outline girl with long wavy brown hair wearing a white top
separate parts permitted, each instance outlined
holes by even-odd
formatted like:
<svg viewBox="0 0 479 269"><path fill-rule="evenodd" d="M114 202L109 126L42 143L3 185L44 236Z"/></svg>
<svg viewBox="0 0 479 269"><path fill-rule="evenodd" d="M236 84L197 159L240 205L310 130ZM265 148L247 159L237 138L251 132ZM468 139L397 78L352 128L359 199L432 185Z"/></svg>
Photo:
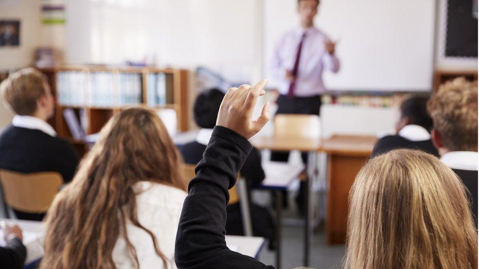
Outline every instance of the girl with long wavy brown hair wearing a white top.
<svg viewBox="0 0 479 269"><path fill-rule="evenodd" d="M110 119L46 217L42 268L176 268L183 160L155 112Z"/></svg>

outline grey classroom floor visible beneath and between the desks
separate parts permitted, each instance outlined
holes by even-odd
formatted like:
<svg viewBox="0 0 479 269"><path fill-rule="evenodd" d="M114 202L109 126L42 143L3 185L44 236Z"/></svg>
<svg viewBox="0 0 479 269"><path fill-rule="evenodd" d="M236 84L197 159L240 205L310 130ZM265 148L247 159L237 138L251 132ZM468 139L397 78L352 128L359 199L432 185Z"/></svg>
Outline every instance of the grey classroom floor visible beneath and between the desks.
<svg viewBox="0 0 479 269"><path fill-rule="evenodd" d="M294 205L296 193L289 193L290 207L285 209L283 217L285 219L297 218ZM269 196L265 192L256 192L253 194L253 200L266 206L269 203ZM304 229L301 226L284 225L283 224L283 252L282 252L282 269L292 269L302 266L303 261L303 234ZM315 269L341 268L341 263L345 255L344 245L327 245L324 233L324 225L319 225L315 229L310 250L310 265ZM274 251L270 251L267 246L262 249L259 260L266 265L275 265L276 255Z"/></svg>

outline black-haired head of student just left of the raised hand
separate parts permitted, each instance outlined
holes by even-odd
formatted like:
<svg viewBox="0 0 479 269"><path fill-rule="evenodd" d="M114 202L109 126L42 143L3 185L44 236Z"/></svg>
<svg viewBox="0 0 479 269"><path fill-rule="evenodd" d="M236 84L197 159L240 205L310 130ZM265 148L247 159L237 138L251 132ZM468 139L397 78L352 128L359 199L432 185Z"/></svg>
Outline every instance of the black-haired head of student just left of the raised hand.
<svg viewBox="0 0 479 269"><path fill-rule="evenodd" d="M223 101L224 93L218 89L211 89L198 95L193 106L196 124L201 128L213 128L216 125L219 106Z"/></svg>

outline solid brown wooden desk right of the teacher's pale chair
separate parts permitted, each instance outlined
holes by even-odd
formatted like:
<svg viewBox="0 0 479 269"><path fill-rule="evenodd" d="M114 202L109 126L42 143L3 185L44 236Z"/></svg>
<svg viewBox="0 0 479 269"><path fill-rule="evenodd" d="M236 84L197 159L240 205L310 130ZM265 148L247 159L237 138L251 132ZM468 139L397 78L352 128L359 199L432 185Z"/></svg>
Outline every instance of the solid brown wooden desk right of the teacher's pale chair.
<svg viewBox="0 0 479 269"><path fill-rule="evenodd" d="M347 230L348 197L356 174L368 160L377 141L374 136L335 135L319 148L328 154L326 240L344 244Z"/></svg>

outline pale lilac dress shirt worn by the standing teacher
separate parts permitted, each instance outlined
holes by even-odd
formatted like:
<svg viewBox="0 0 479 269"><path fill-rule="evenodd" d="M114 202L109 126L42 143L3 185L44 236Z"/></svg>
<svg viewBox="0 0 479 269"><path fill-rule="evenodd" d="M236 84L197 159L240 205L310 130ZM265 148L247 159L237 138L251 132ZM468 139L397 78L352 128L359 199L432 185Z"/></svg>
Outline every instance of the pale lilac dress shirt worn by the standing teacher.
<svg viewBox="0 0 479 269"><path fill-rule="evenodd" d="M322 81L323 70L339 71L339 59L324 48L324 41L329 41L329 38L323 32L314 26L293 29L280 39L270 63L270 80L282 95L288 94L290 81L286 79L285 70L293 70L303 33L306 37L299 58L294 96L310 97L326 92Z"/></svg>

